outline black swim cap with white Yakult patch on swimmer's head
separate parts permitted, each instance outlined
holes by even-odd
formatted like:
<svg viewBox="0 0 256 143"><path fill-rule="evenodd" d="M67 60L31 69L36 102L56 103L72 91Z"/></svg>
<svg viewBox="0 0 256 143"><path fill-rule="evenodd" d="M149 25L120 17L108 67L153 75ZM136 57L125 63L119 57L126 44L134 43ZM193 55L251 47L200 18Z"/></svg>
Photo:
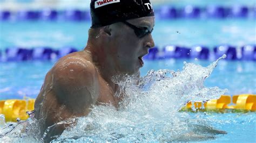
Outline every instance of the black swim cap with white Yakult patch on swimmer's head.
<svg viewBox="0 0 256 143"><path fill-rule="evenodd" d="M150 0L91 0L91 28L154 16Z"/></svg>

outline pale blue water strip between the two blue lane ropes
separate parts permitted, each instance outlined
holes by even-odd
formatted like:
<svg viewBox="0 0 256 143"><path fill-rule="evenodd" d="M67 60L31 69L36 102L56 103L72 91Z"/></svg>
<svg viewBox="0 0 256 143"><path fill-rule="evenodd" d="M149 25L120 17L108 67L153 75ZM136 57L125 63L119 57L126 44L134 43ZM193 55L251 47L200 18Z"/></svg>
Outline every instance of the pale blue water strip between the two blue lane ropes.
<svg viewBox="0 0 256 143"><path fill-rule="evenodd" d="M166 45L213 48L221 44L241 47L255 44L255 22L255 19L157 20L152 35L159 48ZM10 46L83 49L89 28L90 22L1 22L0 50Z"/></svg>

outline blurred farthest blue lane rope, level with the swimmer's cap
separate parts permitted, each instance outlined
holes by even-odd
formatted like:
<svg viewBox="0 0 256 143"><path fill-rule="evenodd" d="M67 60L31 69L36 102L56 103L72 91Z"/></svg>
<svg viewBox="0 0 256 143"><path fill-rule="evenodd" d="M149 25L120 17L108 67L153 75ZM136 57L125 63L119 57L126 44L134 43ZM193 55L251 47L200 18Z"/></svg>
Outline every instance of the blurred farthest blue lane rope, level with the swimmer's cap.
<svg viewBox="0 0 256 143"><path fill-rule="evenodd" d="M253 6L234 5L221 6L209 5L205 7L187 5L184 8L175 8L164 5L155 8L155 15L158 19L177 19L177 18L256 18L256 8ZM90 10L80 9L41 9L41 10L0 10L0 20L2 21L24 21L24 20L69 20L69 21L90 21Z"/></svg>

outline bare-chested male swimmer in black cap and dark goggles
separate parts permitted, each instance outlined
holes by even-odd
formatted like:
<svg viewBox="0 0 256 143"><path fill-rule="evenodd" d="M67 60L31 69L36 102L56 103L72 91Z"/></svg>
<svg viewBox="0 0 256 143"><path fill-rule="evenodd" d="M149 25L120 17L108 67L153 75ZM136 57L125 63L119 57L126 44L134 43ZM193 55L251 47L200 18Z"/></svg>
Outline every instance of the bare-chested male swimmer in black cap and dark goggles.
<svg viewBox="0 0 256 143"><path fill-rule="evenodd" d="M92 105L112 104L118 85L112 77L139 74L143 56L154 47L154 11L149 0L92 0L92 26L83 51L61 58L46 74L35 102L35 118L47 127L87 116ZM61 134L57 126L49 136Z"/></svg>

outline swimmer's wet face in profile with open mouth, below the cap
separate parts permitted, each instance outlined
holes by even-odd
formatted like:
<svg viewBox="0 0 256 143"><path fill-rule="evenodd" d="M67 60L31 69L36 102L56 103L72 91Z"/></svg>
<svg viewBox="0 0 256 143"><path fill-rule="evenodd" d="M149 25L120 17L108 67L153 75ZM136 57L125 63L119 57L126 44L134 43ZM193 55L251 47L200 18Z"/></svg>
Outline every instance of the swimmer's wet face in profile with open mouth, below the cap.
<svg viewBox="0 0 256 143"><path fill-rule="evenodd" d="M129 24L145 27L152 31L154 16L127 20ZM111 57L118 73L136 74L143 67L143 56L149 53L149 48L154 47L151 33L139 38L133 28L124 23L114 25L111 32Z"/></svg>

